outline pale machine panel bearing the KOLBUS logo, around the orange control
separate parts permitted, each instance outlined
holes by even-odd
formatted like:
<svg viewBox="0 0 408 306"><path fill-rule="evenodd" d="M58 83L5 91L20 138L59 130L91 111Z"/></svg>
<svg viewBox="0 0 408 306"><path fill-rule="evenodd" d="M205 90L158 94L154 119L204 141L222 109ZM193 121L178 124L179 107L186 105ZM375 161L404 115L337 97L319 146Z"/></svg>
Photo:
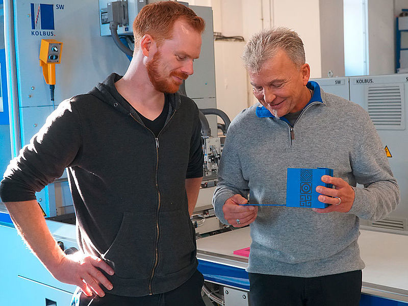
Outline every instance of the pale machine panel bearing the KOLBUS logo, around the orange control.
<svg viewBox="0 0 408 306"><path fill-rule="evenodd" d="M55 107L63 99L88 92L112 71L126 71L126 56L111 37L100 37L97 11L98 4L93 1L44 0L40 5L14 2L22 145L29 142L54 110L38 60L41 39L63 43L61 64L56 65ZM25 116L30 113L41 115Z"/></svg>

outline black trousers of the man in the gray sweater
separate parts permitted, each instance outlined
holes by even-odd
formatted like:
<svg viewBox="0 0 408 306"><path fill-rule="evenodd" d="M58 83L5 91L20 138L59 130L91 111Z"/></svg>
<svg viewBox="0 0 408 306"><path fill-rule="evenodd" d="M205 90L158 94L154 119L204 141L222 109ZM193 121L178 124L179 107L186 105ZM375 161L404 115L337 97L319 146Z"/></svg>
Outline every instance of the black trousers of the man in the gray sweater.
<svg viewBox="0 0 408 306"><path fill-rule="evenodd" d="M251 306L359 306L362 271L319 277L249 274Z"/></svg>

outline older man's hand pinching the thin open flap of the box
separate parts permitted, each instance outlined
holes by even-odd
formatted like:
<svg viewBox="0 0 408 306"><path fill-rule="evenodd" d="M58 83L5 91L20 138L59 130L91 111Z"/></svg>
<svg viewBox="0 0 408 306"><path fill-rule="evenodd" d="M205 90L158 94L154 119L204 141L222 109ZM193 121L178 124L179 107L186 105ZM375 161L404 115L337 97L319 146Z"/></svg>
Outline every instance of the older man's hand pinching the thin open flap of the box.
<svg viewBox="0 0 408 306"><path fill-rule="evenodd" d="M225 201L222 211L228 223L234 227L242 227L252 223L257 218L258 207L242 206L247 202L248 200L240 194L235 194ZM239 222L237 222L238 220Z"/></svg>

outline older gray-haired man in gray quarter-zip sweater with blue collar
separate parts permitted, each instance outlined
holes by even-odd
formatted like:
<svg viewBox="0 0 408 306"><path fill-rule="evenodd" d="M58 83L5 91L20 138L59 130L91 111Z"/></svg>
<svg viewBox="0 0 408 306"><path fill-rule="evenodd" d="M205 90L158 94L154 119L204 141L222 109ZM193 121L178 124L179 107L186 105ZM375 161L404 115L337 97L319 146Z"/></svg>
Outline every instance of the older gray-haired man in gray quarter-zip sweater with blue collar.
<svg viewBox="0 0 408 306"><path fill-rule="evenodd" d="M309 82L297 33L256 34L242 58L259 104L228 129L213 205L223 223L250 224L251 304L357 306L360 218L384 218L399 202L374 125L360 106ZM316 188L329 206L286 207L288 167L334 169L321 181L335 189Z"/></svg>

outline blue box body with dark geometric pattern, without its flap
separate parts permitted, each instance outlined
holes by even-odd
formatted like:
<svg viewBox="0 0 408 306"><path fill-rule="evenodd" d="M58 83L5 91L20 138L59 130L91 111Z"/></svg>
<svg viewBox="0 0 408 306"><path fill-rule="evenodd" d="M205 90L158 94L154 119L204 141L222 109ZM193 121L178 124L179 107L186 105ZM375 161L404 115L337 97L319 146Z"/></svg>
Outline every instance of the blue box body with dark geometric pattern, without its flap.
<svg viewBox="0 0 408 306"><path fill-rule="evenodd" d="M286 206L302 208L326 208L327 203L320 202L317 197L317 186L333 188L331 184L322 182L323 175L333 176L329 168L288 168L286 181Z"/></svg>

